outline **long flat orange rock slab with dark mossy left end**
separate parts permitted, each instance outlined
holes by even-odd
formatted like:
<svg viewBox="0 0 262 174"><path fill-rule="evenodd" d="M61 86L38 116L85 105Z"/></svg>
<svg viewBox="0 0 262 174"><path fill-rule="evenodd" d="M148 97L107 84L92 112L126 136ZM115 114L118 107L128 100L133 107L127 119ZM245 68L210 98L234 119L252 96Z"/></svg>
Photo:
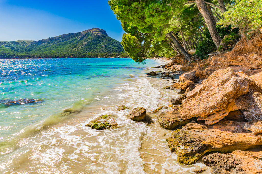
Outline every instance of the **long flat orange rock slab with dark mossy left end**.
<svg viewBox="0 0 262 174"><path fill-rule="evenodd" d="M197 123L188 123L166 140L177 154L177 161L187 165L194 164L206 152L228 153L262 145L262 136L221 131Z"/></svg>

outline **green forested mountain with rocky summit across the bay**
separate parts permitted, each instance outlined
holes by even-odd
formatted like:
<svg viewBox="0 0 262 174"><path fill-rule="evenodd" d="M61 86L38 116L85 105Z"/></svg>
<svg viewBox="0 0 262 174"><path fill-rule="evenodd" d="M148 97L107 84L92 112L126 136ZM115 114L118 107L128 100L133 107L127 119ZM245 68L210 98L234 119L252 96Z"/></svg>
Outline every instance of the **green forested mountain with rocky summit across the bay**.
<svg viewBox="0 0 262 174"><path fill-rule="evenodd" d="M105 30L89 29L39 41L0 42L0 58L127 57Z"/></svg>

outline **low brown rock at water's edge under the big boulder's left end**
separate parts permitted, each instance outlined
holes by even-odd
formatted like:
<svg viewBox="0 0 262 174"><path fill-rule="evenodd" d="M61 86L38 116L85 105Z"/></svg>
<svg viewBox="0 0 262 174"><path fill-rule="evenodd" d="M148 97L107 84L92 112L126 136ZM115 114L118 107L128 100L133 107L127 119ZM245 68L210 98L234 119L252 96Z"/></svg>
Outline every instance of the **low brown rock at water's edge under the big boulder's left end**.
<svg viewBox="0 0 262 174"><path fill-rule="evenodd" d="M183 120L179 116L179 111L164 112L157 116L159 125L165 129L175 129L177 127L185 126L193 119Z"/></svg>

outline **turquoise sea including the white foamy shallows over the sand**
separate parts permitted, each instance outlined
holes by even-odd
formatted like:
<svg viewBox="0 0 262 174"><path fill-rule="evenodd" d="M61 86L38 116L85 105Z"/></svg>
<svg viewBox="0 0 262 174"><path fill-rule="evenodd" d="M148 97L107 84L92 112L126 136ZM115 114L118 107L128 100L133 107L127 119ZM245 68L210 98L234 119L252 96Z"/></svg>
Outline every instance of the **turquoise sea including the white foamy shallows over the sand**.
<svg viewBox="0 0 262 174"><path fill-rule="evenodd" d="M178 164L165 141L171 131L159 126L159 113L150 113L178 97L162 89L171 85L167 79L145 75L161 64L0 59L0 173L192 173L204 167L201 161ZM129 109L115 111L117 104ZM135 107L146 108L151 121L126 120ZM118 128L85 126L108 114L116 117Z"/></svg>

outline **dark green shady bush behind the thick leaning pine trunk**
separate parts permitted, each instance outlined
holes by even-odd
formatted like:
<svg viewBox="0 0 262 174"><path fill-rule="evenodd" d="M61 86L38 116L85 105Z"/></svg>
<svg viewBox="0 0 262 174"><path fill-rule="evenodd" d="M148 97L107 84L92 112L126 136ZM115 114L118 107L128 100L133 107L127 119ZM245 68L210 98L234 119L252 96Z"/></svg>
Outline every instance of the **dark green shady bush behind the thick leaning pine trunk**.
<svg viewBox="0 0 262 174"><path fill-rule="evenodd" d="M220 37L224 37L225 35L230 35L232 33L238 33L238 29L230 30L230 26L223 27L221 25L217 25L216 29L220 35ZM236 34L235 34L236 35ZM236 35L237 36L237 35ZM208 54L214 52L217 49L215 43L213 42L211 35L208 30L204 31L203 34L203 42L200 42L198 47L196 48L196 55L200 59L208 58Z"/></svg>

